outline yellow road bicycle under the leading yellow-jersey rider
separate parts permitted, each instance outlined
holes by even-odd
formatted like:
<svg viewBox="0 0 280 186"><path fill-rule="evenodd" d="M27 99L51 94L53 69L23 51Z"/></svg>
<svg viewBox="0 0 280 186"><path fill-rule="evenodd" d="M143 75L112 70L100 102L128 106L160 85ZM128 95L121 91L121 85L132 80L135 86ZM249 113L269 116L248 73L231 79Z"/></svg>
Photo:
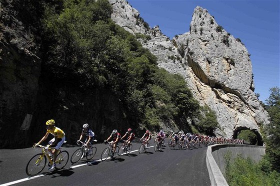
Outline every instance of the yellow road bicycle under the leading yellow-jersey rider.
<svg viewBox="0 0 280 186"><path fill-rule="evenodd" d="M42 152L33 156L27 163L25 172L28 176L34 176L39 174L46 165L46 159L49 162L48 163L49 167L53 164L52 156L49 155L47 149L52 150L54 148L48 148L47 146L42 146L42 145L38 145L37 147L41 148ZM54 168L56 170L63 169L67 164L68 159L69 159L69 153L67 151L61 151L61 149L59 149L55 160L56 167Z"/></svg>

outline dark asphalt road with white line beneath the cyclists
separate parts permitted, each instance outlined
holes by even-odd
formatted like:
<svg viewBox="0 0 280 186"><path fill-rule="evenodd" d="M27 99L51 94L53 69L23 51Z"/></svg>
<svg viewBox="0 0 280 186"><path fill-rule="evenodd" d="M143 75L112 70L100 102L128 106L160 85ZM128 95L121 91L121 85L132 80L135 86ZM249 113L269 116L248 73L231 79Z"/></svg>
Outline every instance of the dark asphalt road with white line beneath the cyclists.
<svg viewBox="0 0 280 186"><path fill-rule="evenodd" d="M64 170L48 171L40 176L25 173L29 159L40 153L39 148L0 150L0 184L17 186L209 186L206 168L206 147L189 150L170 150L166 145L154 152L153 140L148 153L139 154L140 143L132 143L130 155L100 161L105 144L96 144L97 152L91 162L84 159L76 164L70 160ZM63 147L69 158L77 147ZM135 152L133 152L135 151ZM0 185L0 186L1 186Z"/></svg>

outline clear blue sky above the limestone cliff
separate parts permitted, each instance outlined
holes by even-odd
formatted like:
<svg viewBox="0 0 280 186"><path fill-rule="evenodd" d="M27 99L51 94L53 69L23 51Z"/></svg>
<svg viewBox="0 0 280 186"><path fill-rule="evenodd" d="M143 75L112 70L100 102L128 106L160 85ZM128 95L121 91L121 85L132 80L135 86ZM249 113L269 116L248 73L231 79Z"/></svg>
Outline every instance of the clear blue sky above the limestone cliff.
<svg viewBox="0 0 280 186"><path fill-rule="evenodd" d="M244 43L252 62L255 93L269 97L280 86L279 0L128 0L150 27L159 25L169 38L189 31L194 8L208 10L235 38Z"/></svg>

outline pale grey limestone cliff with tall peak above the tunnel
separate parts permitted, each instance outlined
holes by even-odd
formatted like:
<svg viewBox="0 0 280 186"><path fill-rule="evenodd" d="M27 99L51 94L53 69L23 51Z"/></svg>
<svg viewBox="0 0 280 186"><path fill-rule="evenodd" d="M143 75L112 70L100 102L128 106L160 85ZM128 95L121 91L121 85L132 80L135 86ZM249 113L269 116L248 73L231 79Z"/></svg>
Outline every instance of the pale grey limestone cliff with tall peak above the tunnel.
<svg viewBox="0 0 280 186"><path fill-rule="evenodd" d="M146 28L144 21L135 24L134 15L139 19L139 12L125 0L110 2L111 18L130 33L149 35L151 39L142 44L158 57L158 66L181 74L200 105L215 111L220 125L216 135L236 137L239 130L249 129L261 138L258 124L267 124L268 115L253 92L248 51L206 9L197 6L189 32L169 40L158 26Z"/></svg>

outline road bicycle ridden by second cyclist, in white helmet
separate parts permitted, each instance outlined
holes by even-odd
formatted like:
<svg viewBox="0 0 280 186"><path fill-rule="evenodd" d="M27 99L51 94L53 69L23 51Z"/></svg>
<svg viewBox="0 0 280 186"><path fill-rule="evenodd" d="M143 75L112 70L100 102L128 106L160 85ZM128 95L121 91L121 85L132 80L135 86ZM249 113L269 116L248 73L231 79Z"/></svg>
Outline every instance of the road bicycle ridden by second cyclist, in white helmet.
<svg viewBox="0 0 280 186"><path fill-rule="evenodd" d="M97 142L97 140L93 140L93 142ZM77 144L81 144L81 147L72 154L71 163L77 163L82 157L86 157L86 160L91 160L96 153L96 147L90 144L90 148L87 149L86 144L81 141L78 141Z"/></svg>

